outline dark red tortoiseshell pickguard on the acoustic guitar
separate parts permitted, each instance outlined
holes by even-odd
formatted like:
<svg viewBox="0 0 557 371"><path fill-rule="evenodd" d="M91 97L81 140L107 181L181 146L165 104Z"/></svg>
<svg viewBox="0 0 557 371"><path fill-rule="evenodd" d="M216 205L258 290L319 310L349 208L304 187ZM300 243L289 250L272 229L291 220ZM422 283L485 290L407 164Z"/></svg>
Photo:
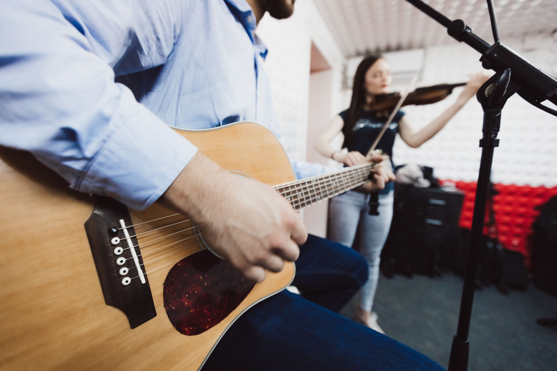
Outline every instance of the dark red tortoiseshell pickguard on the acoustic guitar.
<svg viewBox="0 0 557 371"><path fill-rule="evenodd" d="M199 335L242 303L255 283L226 260L204 250L180 260L164 280L164 309L184 335Z"/></svg>

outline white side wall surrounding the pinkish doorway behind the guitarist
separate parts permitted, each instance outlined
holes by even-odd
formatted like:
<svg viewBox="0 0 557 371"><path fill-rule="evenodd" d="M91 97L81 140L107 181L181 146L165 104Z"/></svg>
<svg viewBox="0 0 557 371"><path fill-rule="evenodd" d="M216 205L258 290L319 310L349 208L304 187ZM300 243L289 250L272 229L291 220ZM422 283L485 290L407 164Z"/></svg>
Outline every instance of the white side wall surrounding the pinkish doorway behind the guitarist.
<svg viewBox="0 0 557 371"><path fill-rule="evenodd" d="M307 105L309 102L310 56L313 41L333 72L334 105L342 106L341 81L344 56L313 0L298 0L294 15L277 21L268 14L257 27L268 47L265 70L271 80L273 104L281 124L282 145L291 159L304 160L307 149ZM324 123L326 125L326 123Z"/></svg>

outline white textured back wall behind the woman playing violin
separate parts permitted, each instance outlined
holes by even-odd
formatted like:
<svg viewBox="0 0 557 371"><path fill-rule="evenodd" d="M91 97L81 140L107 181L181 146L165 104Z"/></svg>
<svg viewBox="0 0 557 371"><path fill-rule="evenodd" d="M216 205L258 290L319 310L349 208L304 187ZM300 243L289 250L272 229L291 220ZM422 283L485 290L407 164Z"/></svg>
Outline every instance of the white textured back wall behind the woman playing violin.
<svg viewBox="0 0 557 371"><path fill-rule="evenodd" d="M532 42L533 41L533 42ZM506 40L505 44L553 76L557 76L557 39L533 37ZM482 70L480 54L466 44L451 43L429 47L423 52L422 73L418 86L467 81L467 74ZM400 52L397 52L400 53ZM395 53L396 70L413 68L400 63ZM349 61L350 62L350 61ZM354 62L353 62L354 63ZM351 79L351 76L348 78ZM455 102L462 88L446 100L426 106L406 106L403 110L417 128L423 127ZM344 106L350 92L345 90ZM550 104L550 103L549 103ZM432 166L441 179L477 180L481 149L483 111L476 98L457 113L447 126L418 149L411 149L397 138L394 146L396 164L417 163ZM500 147L495 149L492 179L503 184L557 186L557 117L532 107L518 96L511 97L502 111Z"/></svg>

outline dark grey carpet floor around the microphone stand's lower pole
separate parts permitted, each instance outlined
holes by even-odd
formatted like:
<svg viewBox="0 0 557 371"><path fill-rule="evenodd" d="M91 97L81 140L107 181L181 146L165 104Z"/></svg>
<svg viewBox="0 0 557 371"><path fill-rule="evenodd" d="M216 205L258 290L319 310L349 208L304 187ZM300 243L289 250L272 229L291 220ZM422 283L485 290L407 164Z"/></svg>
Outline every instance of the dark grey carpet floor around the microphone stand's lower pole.
<svg viewBox="0 0 557 371"><path fill-rule="evenodd" d="M448 367L461 294L462 279L452 274L381 276L374 311L387 335ZM342 314L351 316L356 302ZM476 290L468 370L557 371L557 327L541 327L540 317L557 317L557 298L531 284L508 295L493 287Z"/></svg>

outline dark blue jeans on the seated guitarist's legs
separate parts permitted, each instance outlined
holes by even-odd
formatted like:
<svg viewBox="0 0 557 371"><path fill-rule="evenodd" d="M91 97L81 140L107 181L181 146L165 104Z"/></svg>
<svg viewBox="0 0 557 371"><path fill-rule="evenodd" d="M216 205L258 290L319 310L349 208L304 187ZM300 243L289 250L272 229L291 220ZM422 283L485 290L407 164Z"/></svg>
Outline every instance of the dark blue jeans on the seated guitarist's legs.
<svg viewBox="0 0 557 371"><path fill-rule="evenodd" d="M284 290L247 310L202 371L443 370L335 313L364 284L367 272L365 259L355 251L310 235L300 246L294 280L304 297Z"/></svg>

